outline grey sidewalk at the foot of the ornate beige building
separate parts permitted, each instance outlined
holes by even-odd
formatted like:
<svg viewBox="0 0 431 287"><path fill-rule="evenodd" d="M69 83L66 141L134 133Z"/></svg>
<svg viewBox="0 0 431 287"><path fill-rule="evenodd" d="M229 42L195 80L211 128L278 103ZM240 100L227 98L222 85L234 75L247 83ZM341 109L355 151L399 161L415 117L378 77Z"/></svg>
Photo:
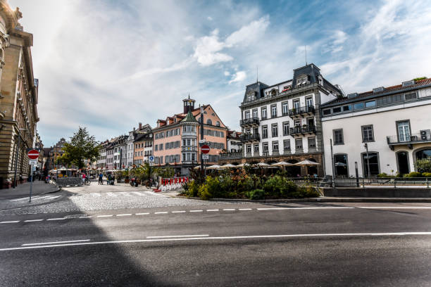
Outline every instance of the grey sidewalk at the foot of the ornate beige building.
<svg viewBox="0 0 431 287"><path fill-rule="evenodd" d="M45 184L45 181L35 180L32 186L32 196L58 191L55 184ZM30 182L18 184L15 189L0 189L0 200L22 198L30 195Z"/></svg>

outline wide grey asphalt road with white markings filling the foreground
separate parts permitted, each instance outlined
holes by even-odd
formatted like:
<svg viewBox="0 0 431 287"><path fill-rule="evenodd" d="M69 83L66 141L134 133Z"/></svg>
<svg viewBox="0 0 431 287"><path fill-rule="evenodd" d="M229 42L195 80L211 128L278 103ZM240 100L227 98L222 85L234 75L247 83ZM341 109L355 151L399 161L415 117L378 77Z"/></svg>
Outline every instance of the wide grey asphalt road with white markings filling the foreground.
<svg viewBox="0 0 431 287"><path fill-rule="evenodd" d="M431 204L123 194L141 206L113 209L101 201L120 194L89 191L76 210L58 210L80 197L65 194L46 210L0 213L0 286L431 285Z"/></svg>

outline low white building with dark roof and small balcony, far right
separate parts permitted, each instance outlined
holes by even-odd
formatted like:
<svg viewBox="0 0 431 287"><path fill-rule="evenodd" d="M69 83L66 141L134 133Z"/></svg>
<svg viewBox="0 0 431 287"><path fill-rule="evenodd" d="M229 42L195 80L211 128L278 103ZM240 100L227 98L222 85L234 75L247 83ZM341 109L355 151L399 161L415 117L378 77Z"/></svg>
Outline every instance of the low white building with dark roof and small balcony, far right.
<svg viewBox="0 0 431 287"><path fill-rule="evenodd" d="M355 162L360 177L368 167L371 176L407 174L417 159L431 157L431 79L349 94L321 113L326 174L354 176Z"/></svg>

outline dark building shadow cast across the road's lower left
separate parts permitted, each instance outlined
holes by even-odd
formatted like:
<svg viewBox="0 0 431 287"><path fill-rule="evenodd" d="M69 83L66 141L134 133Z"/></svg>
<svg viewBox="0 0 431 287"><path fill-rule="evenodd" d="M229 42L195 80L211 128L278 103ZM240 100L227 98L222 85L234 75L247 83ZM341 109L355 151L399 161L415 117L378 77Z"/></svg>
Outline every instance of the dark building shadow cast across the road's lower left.
<svg viewBox="0 0 431 287"><path fill-rule="evenodd" d="M73 213L68 218L85 212ZM113 240L92 218L3 225L1 236L16 247L68 238ZM118 244L0 251L0 282L1 286L175 286L136 264Z"/></svg>

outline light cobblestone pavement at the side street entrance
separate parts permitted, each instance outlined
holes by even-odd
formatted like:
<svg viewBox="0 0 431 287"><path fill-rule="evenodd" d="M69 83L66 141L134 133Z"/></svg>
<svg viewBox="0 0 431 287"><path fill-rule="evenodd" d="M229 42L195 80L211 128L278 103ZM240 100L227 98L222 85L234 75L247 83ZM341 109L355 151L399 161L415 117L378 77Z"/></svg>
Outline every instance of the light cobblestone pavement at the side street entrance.
<svg viewBox="0 0 431 287"><path fill-rule="evenodd" d="M216 201L173 198L163 193L154 193L142 186L132 187L125 184L107 186L98 185L96 182L92 182L90 186L63 188L52 196L56 197L54 201L44 203L44 200L50 198L40 198L37 205L2 210L0 215L218 204ZM34 202L37 202L37 199Z"/></svg>

